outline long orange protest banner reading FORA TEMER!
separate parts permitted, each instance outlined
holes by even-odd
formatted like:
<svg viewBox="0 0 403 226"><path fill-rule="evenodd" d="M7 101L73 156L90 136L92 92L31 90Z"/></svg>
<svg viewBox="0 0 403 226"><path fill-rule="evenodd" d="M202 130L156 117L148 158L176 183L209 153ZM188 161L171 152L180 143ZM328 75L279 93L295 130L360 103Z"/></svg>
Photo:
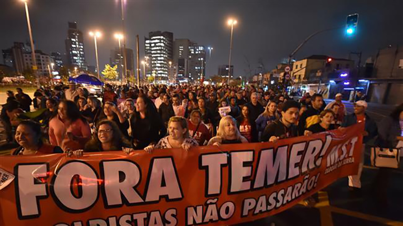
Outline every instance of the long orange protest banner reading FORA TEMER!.
<svg viewBox="0 0 403 226"><path fill-rule="evenodd" d="M224 225L256 220L357 174L363 129L358 124L276 143L188 152L0 157L0 225Z"/></svg>

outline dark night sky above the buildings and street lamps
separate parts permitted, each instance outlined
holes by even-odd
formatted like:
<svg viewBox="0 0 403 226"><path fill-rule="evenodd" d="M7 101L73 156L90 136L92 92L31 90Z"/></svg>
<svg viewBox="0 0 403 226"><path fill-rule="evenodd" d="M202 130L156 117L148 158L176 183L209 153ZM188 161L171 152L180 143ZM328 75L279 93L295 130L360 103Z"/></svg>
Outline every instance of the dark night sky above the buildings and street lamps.
<svg viewBox="0 0 403 226"><path fill-rule="evenodd" d="M312 54L347 58L350 51L362 51L363 61L388 45L403 44L402 0L128 0L126 2L127 47L135 50L135 35L140 37L140 60L144 58L144 37L150 31L170 31L174 38L188 38L212 46L207 61L207 76L217 74L218 66L228 64L229 17L236 18L232 62L234 75L254 71L259 59L266 70L287 58L307 36L315 31L345 24L348 14L359 13L355 37L345 37L342 30L320 34L296 55L301 59ZM109 63L113 38L121 31L120 2L117 0L30 0L30 17L36 49L45 53L65 53L67 21L77 21L84 33L85 57L96 65L90 30L100 30L101 70ZM0 49L14 41L28 41L23 3L0 0ZM135 56L135 55L134 55ZM208 51L207 51L208 56ZM208 58L207 58L208 59ZM3 63L3 56L1 56Z"/></svg>

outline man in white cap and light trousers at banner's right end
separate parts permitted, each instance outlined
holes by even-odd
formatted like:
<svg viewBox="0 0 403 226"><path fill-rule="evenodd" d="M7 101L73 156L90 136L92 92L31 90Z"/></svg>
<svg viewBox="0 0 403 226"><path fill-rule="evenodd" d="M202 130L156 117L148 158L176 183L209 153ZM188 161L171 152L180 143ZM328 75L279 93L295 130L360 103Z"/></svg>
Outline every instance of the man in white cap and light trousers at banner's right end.
<svg viewBox="0 0 403 226"><path fill-rule="evenodd" d="M364 130L364 138L363 138L363 149L362 149L362 157L360 161L360 165L358 168L358 174L354 176L348 176L348 187L351 191L358 192L361 190L361 173L363 170L364 163L364 151L365 144L368 144L369 140L377 135L377 126L375 121L373 121L365 112L368 104L364 100L359 100L354 103L354 113L347 115L344 117L344 121L341 125L341 129L364 122L365 130Z"/></svg>

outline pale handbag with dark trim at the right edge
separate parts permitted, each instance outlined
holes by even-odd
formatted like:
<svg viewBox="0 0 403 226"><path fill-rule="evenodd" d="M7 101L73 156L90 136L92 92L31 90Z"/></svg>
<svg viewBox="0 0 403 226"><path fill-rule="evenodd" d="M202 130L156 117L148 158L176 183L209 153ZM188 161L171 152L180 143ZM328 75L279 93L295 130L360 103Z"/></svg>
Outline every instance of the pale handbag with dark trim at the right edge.
<svg viewBox="0 0 403 226"><path fill-rule="evenodd" d="M375 167L398 168L400 163L399 148L371 148L371 165Z"/></svg>

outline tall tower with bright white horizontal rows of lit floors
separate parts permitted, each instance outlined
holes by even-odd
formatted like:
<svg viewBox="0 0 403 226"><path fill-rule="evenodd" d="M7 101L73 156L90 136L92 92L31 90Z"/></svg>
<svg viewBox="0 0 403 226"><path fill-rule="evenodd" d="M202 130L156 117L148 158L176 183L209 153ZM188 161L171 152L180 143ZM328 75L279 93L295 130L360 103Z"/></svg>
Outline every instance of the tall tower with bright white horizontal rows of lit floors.
<svg viewBox="0 0 403 226"><path fill-rule="evenodd" d="M158 83L167 83L169 80L169 62L173 60L173 39L173 33L160 31L150 32L149 37L145 38L147 77L154 76Z"/></svg>

